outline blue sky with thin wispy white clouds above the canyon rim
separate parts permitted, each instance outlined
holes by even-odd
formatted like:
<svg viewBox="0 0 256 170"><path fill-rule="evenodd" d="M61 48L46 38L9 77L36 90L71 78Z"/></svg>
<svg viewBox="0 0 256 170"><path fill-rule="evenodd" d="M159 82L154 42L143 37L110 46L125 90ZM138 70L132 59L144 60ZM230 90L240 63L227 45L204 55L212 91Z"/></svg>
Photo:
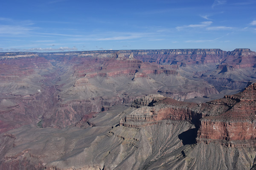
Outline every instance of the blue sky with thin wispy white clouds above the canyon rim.
<svg viewBox="0 0 256 170"><path fill-rule="evenodd" d="M5 0L0 52L250 48L255 0Z"/></svg>

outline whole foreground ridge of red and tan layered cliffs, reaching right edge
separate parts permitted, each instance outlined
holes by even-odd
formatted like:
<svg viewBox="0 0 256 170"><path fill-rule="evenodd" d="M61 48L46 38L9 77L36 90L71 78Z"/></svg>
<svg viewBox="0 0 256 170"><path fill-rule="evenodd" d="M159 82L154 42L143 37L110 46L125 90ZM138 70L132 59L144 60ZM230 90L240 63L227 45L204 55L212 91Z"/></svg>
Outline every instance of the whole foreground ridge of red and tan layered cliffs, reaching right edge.
<svg viewBox="0 0 256 170"><path fill-rule="evenodd" d="M200 105L150 95L134 100L132 106L138 109L122 118L119 125L139 128L165 119L189 121L199 128L198 143L256 146L256 84L239 94Z"/></svg>

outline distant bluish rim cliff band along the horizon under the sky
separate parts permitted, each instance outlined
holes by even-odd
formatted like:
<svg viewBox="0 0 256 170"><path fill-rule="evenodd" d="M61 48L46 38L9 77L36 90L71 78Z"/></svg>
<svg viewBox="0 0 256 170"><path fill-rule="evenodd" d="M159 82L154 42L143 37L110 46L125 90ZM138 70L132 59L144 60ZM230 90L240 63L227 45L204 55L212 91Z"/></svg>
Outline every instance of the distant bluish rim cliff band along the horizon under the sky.
<svg viewBox="0 0 256 170"><path fill-rule="evenodd" d="M114 55L113 55L114 54ZM143 62L156 62L161 65L197 65L197 64L224 64L240 65L239 67L252 67L255 64L256 53L247 48L237 48L234 51L221 49L162 49L162 50L109 50L109 51L71 51L55 53L0 53L1 58L19 57L45 57L49 58L72 58L93 57L108 58L116 57L116 54L126 58L135 58ZM121 57L122 58L122 57ZM120 57L118 58L120 59Z"/></svg>

